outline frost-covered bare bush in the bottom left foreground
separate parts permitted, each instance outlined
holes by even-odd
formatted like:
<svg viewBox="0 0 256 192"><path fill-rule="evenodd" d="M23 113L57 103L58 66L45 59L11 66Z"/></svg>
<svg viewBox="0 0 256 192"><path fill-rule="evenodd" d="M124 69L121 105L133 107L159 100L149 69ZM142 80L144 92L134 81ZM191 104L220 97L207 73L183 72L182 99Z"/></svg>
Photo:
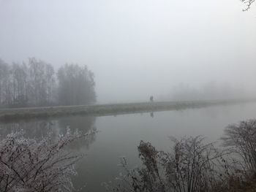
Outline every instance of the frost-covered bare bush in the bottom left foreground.
<svg viewBox="0 0 256 192"><path fill-rule="evenodd" d="M0 142L0 191L72 191L70 177L81 155L67 150L75 139L85 137L78 132L26 139L23 132L9 134Z"/></svg>

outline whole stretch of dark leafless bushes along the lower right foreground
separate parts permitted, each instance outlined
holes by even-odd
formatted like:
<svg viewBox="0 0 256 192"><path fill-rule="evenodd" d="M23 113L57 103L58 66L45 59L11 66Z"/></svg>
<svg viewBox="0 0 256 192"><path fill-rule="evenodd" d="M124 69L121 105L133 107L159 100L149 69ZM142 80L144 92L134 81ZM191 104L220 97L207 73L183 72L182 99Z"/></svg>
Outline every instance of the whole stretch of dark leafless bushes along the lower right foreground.
<svg viewBox="0 0 256 192"><path fill-rule="evenodd" d="M256 120L241 121L225 128L225 148L217 150L203 137L172 139L170 153L140 142L142 166L128 169L125 158L115 183L108 191L215 192L256 191Z"/></svg>

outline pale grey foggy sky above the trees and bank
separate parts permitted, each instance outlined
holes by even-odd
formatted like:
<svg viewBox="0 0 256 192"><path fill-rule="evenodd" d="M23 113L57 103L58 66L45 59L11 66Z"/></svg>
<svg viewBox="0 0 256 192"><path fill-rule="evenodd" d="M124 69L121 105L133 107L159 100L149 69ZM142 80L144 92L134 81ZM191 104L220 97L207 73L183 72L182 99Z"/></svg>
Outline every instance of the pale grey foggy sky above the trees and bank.
<svg viewBox="0 0 256 192"><path fill-rule="evenodd" d="M0 0L0 58L86 64L99 102L181 82L256 88L256 9L239 0Z"/></svg>

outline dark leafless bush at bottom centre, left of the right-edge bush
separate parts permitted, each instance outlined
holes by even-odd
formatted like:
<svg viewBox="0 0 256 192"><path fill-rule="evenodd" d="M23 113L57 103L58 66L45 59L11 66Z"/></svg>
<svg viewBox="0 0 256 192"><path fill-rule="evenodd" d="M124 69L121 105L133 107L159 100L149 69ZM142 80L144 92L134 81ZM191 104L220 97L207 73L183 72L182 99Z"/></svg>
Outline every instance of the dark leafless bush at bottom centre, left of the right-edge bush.
<svg viewBox="0 0 256 192"><path fill-rule="evenodd" d="M204 144L203 137L172 139L170 153L158 151L149 142L140 142L141 168L129 170L123 158L121 165L126 174L116 180L116 185L106 185L109 191L221 191L219 152L212 143Z"/></svg>

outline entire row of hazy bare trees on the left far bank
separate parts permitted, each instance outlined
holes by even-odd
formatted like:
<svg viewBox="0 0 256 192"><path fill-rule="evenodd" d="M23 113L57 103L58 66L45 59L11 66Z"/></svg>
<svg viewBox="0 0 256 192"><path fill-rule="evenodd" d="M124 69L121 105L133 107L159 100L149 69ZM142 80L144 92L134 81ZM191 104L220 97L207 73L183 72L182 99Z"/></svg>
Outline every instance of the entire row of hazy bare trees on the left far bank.
<svg viewBox="0 0 256 192"><path fill-rule="evenodd" d="M91 104L96 101L94 73L86 65L52 64L29 58L22 64L0 59L0 107Z"/></svg>

